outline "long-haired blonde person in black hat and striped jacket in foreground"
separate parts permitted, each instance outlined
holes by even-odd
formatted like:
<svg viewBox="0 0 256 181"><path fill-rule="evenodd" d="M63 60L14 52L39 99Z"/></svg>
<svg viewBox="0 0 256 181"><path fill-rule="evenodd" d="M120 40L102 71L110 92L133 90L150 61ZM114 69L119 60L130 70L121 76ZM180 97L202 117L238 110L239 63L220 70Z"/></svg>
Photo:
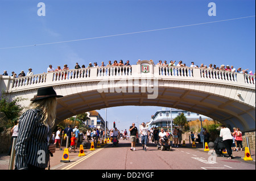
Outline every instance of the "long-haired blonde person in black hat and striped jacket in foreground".
<svg viewBox="0 0 256 181"><path fill-rule="evenodd" d="M56 145L49 145L56 117L57 95L53 87L42 87L31 99L30 106L19 118L19 134L15 150L15 169L44 170Z"/></svg>

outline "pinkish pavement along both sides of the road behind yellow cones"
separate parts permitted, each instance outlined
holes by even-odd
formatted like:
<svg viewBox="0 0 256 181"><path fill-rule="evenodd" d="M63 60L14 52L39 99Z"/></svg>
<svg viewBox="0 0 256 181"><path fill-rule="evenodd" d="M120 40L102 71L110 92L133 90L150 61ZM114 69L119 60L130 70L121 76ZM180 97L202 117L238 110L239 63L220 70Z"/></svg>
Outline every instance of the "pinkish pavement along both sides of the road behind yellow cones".
<svg viewBox="0 0 256 181"><path fill-rule="evenodd" d="M112 144L107 144L106 146L110 146ZM182 145L182 144L181 144ZM97 150L98 148L96 148L97 145L95 145L95 150ZM192 144L186 143L186 146L179 146L179 148L188 148L188 149L197 149L199 151L203 151L203 152L207 152L204 151L203 145L202 144L196 144L197 148L192 148ZM59 148L56 148L55 153L53 154L53 157L50 158L50 169L51 170L58 170L59 167L67 164L67 163L63 163L60 162L61 159L63 158L63 153L64 153L64 146L61 146L61 148L63 150L60 150ZM76 149L76 153L73 152L73 150L71 151L71 153L69 153L69 161L73 162L76 161L77 159L80 159L82 157L79 157L79 150L80 149ZM89 155L91 153L93 153L92 150L90 151L90 146L88 146L88 148L84 148L84 153L85 155ZM213 148L209 148L210 151L213 150ZM251 151L251 158L253 158L253 161L255 162L255 149L254 150L250 150ZM208 154L208 153L207 153ZM236 157L238 159L242 159L243 157L245 157L245 150L243 149L242 151L233 151L233 157ZM10 156L7 154L0 154L0 170L9 170L9 162L10 162ZM246 162L246 161L245 161Z"/></svg>

